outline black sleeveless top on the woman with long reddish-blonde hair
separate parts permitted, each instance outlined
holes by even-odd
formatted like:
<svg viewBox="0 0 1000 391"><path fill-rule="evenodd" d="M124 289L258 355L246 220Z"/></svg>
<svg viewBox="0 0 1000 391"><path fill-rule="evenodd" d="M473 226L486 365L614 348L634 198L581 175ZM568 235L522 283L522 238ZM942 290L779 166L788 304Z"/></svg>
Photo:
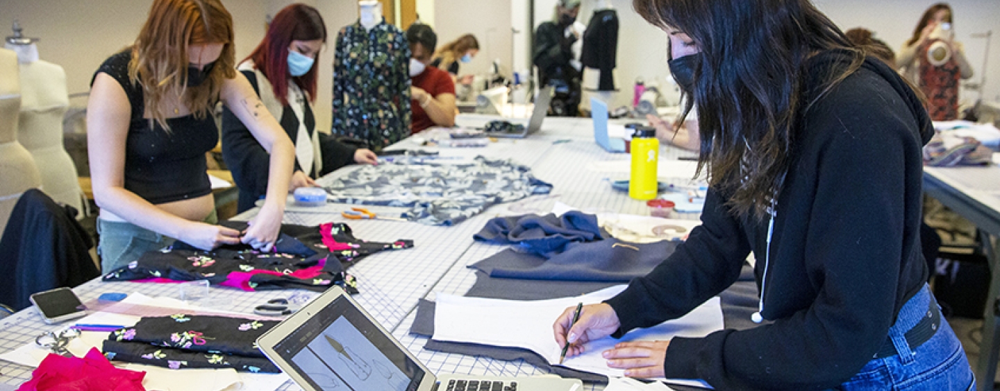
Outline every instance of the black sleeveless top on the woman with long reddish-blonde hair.
<svg viewBox="0 0 1000 391"><path fill-rule="evenodd" d="M170 132L155 121L143 118L142 86L128 78L131 51L125 50L104 61L94 73L104 73L118 81L132 105L125 142L125 190L151 203L196 198L212 193L205 153L219 142L219 130L211 116L194 115L167 119ZM94 81L91 79L91 86Z"/></svg>

